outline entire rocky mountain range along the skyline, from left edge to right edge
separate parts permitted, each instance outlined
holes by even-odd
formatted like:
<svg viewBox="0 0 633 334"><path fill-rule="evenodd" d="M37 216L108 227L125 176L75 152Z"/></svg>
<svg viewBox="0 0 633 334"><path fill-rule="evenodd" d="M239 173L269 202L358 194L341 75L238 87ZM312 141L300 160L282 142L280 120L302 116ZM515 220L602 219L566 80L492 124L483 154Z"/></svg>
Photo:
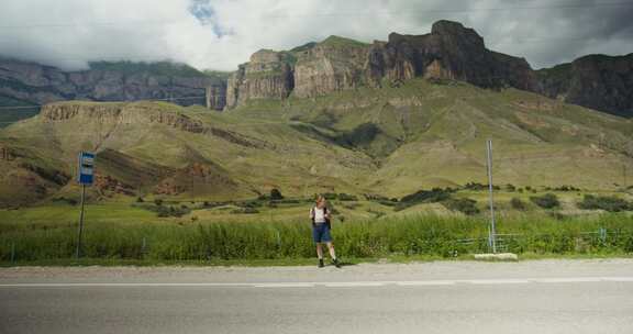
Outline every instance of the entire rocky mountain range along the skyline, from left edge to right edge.
<svg viewBox="0 0 633 334"><path fill-rule="evenodd" d="M230 110L260 99L397 87L412 78L458 80L490 89L512 87L633 116L633 54L591 55L533 70L524 58L488 49L475 30L452 21L435 22L429 34L391 33L386 42L371 44L330 36L290 51L262 49L230 75L165 62L101 62L88 70L63 71L0 58L0 105L173 98L181 105Z"/></svg>

